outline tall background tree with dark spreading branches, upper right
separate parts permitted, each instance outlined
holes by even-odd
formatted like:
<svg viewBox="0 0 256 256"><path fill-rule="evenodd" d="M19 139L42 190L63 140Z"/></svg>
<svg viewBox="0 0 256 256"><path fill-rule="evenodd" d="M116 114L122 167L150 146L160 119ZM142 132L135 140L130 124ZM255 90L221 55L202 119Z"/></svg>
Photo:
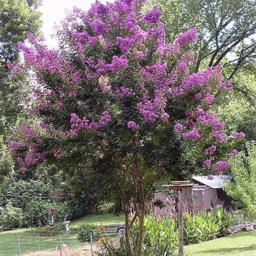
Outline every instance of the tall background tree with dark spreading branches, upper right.
<svg viewBox="0 0 256 256"><path fill-rule="evenodd" d="M242 130L246 140L255 139L255 3L228 0L151 0L158 4L167 41L180 31L196 27L194 71L206 66L223 66L226 79L233 79L229 97L217 97L214 109L227 129ZM216 95L218 96L218 94Z"/></svg>

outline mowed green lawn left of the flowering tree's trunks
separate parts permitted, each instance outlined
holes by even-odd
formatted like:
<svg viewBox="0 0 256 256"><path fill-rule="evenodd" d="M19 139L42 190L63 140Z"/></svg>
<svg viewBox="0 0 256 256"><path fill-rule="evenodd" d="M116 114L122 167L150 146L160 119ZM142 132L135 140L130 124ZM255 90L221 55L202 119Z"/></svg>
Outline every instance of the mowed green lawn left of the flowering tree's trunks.
<svg viewBox="0 0 256 256"><path fill-rule="evenodd" d="M71 222L71 231L63 234L61 241L70 248L81 247L77 239L77 233L72 231L72 227L80 223L96 223L100 225L114 225L124 222L124 215L114 214L87 215L79 220ZM22 254L43 250L55 250L60 246L60 236L33 236L26 233L26 228L11 230L0 233L0 256L17 256L18 235L20 237L20 247Z"/></svg>

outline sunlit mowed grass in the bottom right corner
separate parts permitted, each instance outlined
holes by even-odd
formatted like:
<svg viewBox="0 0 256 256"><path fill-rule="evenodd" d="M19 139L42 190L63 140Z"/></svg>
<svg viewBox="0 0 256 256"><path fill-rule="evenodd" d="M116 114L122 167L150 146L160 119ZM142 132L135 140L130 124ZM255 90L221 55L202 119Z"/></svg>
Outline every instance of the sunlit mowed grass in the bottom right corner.
<svg viewBox="0 0 256 256"><path fill-rule="evenodd" d="M186 256L256 256L256 231L241 232L191 246Z"/></svg>

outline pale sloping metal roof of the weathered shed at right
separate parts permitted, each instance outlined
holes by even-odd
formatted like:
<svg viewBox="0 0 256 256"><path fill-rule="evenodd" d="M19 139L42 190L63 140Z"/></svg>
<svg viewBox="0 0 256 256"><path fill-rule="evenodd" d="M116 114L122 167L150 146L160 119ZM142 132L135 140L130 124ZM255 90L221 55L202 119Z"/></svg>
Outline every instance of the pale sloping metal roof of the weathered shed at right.
<svg viewBox="0 0 256 256"><path fill-rule="evenodd" d="M224 182L230 182L232 179L231 175L212 175L211 177L212 179L209 179L208 176L193 176L192 178L210 188L223 188Z"/></svg>

